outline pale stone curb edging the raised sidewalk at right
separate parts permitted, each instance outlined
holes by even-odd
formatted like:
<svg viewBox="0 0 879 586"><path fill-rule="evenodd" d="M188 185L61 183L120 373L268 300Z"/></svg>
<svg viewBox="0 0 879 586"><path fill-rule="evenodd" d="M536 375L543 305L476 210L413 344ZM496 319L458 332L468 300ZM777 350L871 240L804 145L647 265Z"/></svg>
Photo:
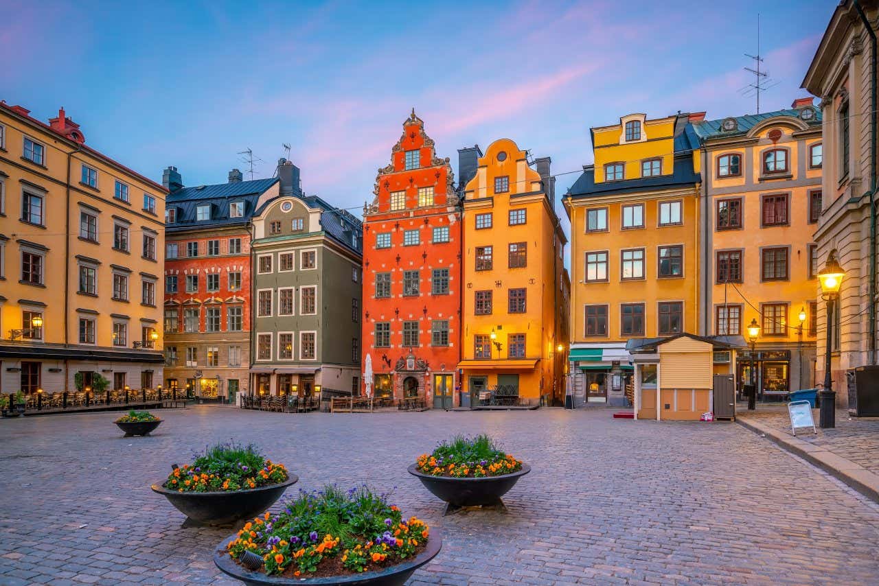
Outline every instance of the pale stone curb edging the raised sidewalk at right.
<svg viewBox="0 0 879 586"><path fill-rule="evenodd" d="M748 421L740 417L736 418L736 422L754 433L764 434L767 439L772 440L785 451L805 459L810 464L845 482L871 501L879 503L879 474L873 474L860 464L855 464L829 450L795 438L786 431L776 430L762 423Z"/></svg>

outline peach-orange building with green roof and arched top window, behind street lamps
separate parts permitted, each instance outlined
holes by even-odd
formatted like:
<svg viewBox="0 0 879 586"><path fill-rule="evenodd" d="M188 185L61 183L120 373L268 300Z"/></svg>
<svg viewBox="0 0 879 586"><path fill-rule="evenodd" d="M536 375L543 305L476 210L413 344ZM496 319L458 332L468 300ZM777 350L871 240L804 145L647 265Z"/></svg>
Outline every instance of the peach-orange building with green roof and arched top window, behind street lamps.
<svg viewBox="0 0 879 586"><path fill-rule="evenodd" d="M821 113L812 98L788 110L702 120L701 331L745 334L737 384L756 378L758 398L814 386L817 245L821 215ZM752 373L752 365L755 365Z"/></svg>

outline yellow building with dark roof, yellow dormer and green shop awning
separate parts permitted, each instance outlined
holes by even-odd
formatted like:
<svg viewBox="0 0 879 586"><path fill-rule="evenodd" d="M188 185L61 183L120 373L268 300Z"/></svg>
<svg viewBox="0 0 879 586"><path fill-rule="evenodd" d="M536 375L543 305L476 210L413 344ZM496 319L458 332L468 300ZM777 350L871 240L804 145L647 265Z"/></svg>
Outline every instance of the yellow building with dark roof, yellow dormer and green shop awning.
<svg viewBox="0 0 879 586"><path fill-rule="evenodd" d="M697 331L704 112L592 128L594 164L563 199L570 218L575 403L622 405L632 338Z"/></svg>

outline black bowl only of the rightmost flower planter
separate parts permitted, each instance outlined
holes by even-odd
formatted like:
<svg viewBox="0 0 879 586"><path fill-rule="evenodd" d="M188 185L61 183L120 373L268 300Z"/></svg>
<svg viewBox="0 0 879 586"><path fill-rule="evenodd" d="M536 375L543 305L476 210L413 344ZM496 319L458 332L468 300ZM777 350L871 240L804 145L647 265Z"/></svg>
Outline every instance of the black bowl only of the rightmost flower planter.
<svg viewBox="0 0 879 586"><path fill-rule="evenodd" d="M500 499L519 478L531 472L531 467L522 464L520 470L511 474L483 476L482 478L455 478L453 476L434 476L418 472L418 465L409 467L409 474L417 477L425 488L430 490L439 500L448 503L446 513L454 512L461 507L495 506L504 507Z"/></svg>

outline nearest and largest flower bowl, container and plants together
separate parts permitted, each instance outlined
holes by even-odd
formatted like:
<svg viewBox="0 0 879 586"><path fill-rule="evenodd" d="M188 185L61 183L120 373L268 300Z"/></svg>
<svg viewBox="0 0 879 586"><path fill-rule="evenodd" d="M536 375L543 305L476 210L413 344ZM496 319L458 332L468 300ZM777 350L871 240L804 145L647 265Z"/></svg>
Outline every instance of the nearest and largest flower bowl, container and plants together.
<svg viewBox="0 0 879 586"><path fill-rule="evenodd" d="M300 492L223 539L214 563L246 584L403 584L442 539L366 486Z"/></svg>

